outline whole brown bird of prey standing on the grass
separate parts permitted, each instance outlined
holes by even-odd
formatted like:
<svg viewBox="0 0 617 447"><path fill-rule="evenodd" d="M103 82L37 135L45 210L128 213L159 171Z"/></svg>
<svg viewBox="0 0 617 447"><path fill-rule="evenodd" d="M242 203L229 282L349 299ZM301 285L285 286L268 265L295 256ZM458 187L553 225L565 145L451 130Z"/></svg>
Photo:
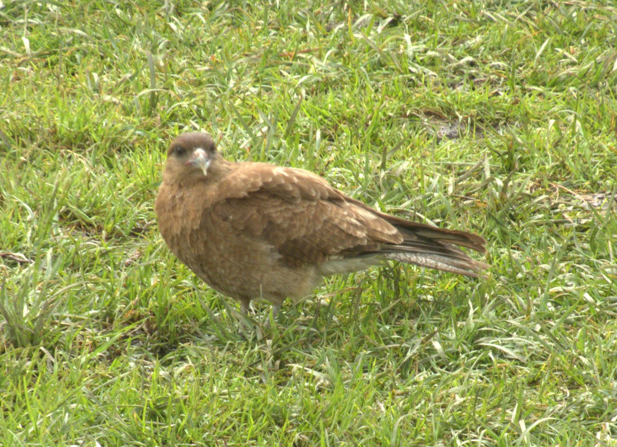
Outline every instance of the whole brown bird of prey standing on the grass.
<svg viewBox="0 0 617 447"><path fill-rule="evenodd" d="M476 234L381 213L309 171L229 162L206 133L172 141L154 210L172 252L245 313L265 298L276 314L323 277L383 260L473 277L488 267L456 247L486 252Z"/></svg>

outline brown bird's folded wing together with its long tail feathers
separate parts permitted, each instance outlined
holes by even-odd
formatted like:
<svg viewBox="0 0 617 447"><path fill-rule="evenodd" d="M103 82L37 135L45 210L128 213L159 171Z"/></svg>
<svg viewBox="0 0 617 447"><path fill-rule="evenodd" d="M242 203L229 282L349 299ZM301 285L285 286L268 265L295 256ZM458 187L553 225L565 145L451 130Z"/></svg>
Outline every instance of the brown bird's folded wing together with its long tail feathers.
<svg viewBox="0 0 617 447"><path fill-rule="evenodd" d="M456 247L486 252L482 237L386 215L309 171L241 163L218 197L212 211L235 234L264 240L289 266L381 255L468 276L487 268Z"/></svg>

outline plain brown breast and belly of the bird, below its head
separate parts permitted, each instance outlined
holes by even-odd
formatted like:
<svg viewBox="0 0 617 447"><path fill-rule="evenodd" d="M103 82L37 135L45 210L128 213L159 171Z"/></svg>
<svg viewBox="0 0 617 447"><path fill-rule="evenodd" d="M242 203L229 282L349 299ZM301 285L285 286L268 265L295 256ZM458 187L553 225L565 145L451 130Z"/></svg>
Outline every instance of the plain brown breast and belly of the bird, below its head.
<svg viewBox="0 0 617 447"><path fill-rule="evenodd" d="M291 268L281 255L252 231L240 231L231 210L215 213L207 197L183 191L159 192L155 212L170 250L210 287L234 298L304 296L319 282L315 268ZM201 206L196 206L201 205Z"/></svg>

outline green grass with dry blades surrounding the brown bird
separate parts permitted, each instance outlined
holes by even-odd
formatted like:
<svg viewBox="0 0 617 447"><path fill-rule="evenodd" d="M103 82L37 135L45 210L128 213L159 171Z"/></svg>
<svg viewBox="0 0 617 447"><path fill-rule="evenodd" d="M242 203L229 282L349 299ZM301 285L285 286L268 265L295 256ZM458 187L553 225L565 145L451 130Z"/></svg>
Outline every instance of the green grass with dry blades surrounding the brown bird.
<svg viewBox="0 0 617 447"><path fill-rule="evenodd" d="M617 445L612 2L173 3L0 2L0 445ZM489 277L238 334L157 231L188 129L479 232Z"/></svg>

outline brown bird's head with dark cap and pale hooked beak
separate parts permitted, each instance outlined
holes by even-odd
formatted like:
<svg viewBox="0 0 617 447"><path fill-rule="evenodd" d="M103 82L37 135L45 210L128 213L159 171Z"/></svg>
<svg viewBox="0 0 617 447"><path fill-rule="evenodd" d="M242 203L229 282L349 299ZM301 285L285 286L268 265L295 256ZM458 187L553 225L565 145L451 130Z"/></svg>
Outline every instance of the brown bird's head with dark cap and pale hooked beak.
<svg viewBox="0 0 617 447"><path fill-rule="evenodd" d="M165 174L178 181L203 178L209 175L218 157L217 146L209 134L183 133L169 145Z"/></svg>

